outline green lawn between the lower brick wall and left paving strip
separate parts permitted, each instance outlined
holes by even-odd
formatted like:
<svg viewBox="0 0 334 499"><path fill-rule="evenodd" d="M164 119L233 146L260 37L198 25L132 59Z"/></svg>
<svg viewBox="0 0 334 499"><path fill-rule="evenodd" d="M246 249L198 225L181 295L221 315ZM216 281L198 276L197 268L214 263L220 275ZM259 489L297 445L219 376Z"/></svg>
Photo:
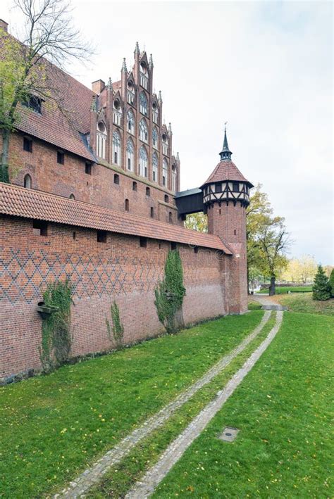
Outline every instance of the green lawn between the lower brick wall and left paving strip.
<svg viewBox="0 0 334 499"><path fill-rule="evenodd" d="M62 488L240 343L263 313L206 322L2 387L0 496Z"/></svg>

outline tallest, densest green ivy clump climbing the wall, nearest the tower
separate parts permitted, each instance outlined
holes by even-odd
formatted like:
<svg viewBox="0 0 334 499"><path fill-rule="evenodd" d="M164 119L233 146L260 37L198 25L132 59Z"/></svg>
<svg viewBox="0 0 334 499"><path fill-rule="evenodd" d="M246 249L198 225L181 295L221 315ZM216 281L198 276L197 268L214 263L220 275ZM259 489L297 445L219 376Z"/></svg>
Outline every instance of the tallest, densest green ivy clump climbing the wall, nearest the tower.
<svg viewBox="0 0 334 499"><path fill-rule="evenodd" d="M182 305L185 296L183 286L183 267L180 253L168 251L165 263L165 277L155 289L156 312L159 321L168 333L183 327Z"/></svg>

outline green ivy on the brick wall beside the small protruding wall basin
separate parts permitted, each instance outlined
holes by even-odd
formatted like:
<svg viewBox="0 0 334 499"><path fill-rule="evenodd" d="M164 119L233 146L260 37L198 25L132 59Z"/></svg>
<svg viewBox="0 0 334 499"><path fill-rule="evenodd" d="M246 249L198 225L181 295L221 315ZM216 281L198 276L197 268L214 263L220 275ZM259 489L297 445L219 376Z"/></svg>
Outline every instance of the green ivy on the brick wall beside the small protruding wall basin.
<svg viewBox="0 0 334 499"><path fill-rule="evenodd" d="M70 356L70 306L73 303L70 282L49 283L43 299L45 305L57 307L55 312L43 320L42 345L39 348L43 370L50 372L64 364Z"/></svg>

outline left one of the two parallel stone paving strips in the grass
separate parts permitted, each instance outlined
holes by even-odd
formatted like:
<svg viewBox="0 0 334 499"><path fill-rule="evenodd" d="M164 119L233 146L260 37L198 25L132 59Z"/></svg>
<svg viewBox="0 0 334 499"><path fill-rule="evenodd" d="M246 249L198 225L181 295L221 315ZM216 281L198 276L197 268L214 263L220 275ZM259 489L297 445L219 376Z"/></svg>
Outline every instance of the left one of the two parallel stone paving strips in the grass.
<svg viewBox="0 0 334 499"><path fill-rule="evenodd" d="M188 389L180 393L171 403L165 405L155 415L149 417L139 428L132 431L128 436L123 438L116 446L109 450L102 456L92 467L88 468L78 476L75 480L70 482L68 488L54 495L54 499L68 498L75 499L82 497L92 485L96 484L112 466L116 465L123 459L133 447L137 445L143 438L149 436L155 429L161 427L173 413L182 407L187 400L192 398L199 389L208 384L214 377L217 376L225 367L227 367L232 360L239 355L242 350L259 335L268 322L271 312L264 312L260 324L249 334L238 346L224 355L209 371L207 371L202 378L192 384Z"/></svg>

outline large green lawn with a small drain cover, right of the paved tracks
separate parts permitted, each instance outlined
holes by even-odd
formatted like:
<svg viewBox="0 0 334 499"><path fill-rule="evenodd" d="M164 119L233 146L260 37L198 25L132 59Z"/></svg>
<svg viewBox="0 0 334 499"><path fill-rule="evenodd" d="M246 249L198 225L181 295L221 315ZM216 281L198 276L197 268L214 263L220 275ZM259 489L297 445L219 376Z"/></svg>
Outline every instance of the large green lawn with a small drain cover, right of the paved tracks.
<svg viewBox="0 0 334 499"><path fill-rule="evenodd" d="M152 497L333 497L333 333L334 317L285 312L273 343ZM225 426L240 429L235 442L218 440Z"/></svg>

